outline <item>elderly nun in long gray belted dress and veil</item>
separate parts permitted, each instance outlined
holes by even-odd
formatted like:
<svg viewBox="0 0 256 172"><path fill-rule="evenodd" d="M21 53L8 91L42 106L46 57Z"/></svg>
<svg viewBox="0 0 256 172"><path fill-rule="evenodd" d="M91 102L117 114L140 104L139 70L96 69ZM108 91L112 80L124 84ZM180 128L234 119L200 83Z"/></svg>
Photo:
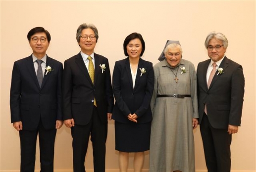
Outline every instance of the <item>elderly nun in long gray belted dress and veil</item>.
<svg viewBox="0 0 256 172"><path fill-rule="evenodd" d="M195 172L193 129L198 126L194 65L178 41L167 41L154 65L150 172Z"/></svg>

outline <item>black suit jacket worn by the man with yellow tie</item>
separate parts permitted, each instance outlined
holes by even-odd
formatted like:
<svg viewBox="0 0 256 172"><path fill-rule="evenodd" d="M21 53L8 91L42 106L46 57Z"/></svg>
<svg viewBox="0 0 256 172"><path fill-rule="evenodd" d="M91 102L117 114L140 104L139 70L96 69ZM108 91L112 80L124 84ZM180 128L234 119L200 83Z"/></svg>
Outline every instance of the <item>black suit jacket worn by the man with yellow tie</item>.
<svg viewBox="0 0 256 172"><path fill-rule="evenodd" d="M112 113L114 98L111 86L110 69L107 58L94 53L94 83L79 52L65 60L63 72L63 118L74 119L77 125L87 125L93 114L94 98L102 123L107 123L107 113ZM105 64L102 73L100 64Z"/></svg>

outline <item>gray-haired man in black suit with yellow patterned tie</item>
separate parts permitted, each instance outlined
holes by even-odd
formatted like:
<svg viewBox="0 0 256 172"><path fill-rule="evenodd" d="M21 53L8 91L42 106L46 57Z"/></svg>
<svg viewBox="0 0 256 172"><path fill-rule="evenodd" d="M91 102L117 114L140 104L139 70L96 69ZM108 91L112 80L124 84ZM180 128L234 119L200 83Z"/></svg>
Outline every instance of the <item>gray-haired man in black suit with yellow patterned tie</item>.
<svg viewBox="0 0 256 172"><path fill-rule="evenodd" d="M108 59L94 53L98 38L93 24L81 24L76 34L81 51L64 62L63 115L73 137L74 172L85 172L90 135L94 171L105 171L107 119L111 120L114 100Z"/></svg>

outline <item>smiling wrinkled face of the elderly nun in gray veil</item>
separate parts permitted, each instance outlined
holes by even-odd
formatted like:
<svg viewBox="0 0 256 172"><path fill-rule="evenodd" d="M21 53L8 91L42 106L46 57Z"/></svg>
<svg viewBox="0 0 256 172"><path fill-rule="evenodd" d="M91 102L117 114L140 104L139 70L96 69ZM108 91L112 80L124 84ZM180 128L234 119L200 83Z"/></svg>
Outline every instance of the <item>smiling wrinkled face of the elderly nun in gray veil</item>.
<svg viewBox="0 0 256 172"><path fill-rule="evenodd" d="M176 67L180 63L181 55L179 47L170 47L165 53L166 61L171 67Z"/></svg>

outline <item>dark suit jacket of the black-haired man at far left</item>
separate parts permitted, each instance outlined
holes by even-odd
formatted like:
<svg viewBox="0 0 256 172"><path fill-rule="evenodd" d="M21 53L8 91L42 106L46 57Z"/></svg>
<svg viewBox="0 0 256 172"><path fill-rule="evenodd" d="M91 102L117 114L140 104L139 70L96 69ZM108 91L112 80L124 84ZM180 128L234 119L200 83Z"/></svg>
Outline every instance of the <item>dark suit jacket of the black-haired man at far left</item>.
<svg viewBox="0 0 256 172"><path fill-rule="evenodd" d="M56 120L62 120L62 63L47 56L46 66L51 66L53 71L44 76L40 88L32 55L14 62L10 89L11 123L21 121L23 129L37 129L40 119L45 129L55 129Z"/></svg>

